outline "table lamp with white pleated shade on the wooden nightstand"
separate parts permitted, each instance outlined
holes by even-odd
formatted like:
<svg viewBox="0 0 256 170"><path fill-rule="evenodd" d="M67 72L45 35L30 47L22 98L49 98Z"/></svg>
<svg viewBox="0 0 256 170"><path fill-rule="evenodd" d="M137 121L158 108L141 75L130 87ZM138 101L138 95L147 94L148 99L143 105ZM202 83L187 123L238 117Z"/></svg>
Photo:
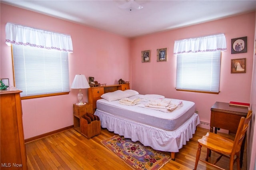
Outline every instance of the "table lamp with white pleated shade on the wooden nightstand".
<svg viewBox="0 0 256 170"><path fill-rule="evenodd" d="M78 103L76 103L76 105L86 104L83 102L84 95L81 89L88 89L88 88L90 88L90 85L88 84L88 81L86 80L85 76L82 74L76 75L71 85L71 89L79 89L79 93L77 95Z"/></svg>

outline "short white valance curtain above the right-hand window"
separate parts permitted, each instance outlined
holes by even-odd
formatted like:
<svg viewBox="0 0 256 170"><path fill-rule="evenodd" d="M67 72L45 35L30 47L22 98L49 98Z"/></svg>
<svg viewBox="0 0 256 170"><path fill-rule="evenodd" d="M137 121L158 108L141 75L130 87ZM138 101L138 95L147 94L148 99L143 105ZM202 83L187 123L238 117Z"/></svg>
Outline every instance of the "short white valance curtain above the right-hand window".
<svg viewBox="0 0 256 170"><path fill-rule="evenodd" d="M224 34L176 40L174 42L174 55L182 53L197 53L206 51L226 50L226 37Z"/></svg>

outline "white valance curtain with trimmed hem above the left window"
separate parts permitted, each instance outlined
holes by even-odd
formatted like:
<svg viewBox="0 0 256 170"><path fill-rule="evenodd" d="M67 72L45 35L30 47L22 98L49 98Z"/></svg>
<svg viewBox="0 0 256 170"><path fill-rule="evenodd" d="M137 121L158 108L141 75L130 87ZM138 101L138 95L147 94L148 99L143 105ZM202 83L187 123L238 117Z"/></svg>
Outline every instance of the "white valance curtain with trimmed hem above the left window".
<svg viewBox="0 0 256 170"><path fill-rule="evenodd" d="M32 47L56 49L59 51L73 52L72 39L70 35L39 30L13 23L7 23L6 44L30 45Z"/></svg>

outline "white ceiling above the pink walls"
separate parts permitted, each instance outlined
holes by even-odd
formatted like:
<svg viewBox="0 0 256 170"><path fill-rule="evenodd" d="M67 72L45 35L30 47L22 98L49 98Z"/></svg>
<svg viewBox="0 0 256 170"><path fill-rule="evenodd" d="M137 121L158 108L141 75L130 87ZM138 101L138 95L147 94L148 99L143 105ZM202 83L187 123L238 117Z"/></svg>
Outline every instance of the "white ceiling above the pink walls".
<svg viewBox="0 0 256 170"><path fill-rule="evenodd" d="M125 0L1 0L114 34L134 38L256 10L256 0L136 0L137 10L119 8ZM239 21L238 21L239 26Z"/></svg>

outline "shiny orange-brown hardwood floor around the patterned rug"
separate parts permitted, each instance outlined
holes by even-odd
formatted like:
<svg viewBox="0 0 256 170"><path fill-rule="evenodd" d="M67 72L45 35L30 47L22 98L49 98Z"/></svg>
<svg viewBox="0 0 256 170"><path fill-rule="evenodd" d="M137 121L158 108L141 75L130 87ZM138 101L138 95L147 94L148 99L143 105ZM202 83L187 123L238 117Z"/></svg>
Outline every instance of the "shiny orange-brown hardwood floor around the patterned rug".
<svg viewBox="0 0 256 170"><path fill-rule="evenodd" d="M178 153L175 161L170 160L161 170L191 170L194 168L197 140L208 132L198 127L193 138ZM102 129L101 134L87 139L74 129L65 130L45 138L26 143L29 170L126 170L129 168L122 160L102 145L101 141L113 136L113 132ZM233 138L233 136L231 136ZM246 150L246 149L245 149ZM211 158L216 158L212 153ZM201 158L205 158L206 149L202 148ZM242 170L246 170L244 156ZM222 158L218 165L228 169L228 159ZM198 163L198 170L215 170L216 168ZM234 170L236 170L234 164Z"/></svg>

